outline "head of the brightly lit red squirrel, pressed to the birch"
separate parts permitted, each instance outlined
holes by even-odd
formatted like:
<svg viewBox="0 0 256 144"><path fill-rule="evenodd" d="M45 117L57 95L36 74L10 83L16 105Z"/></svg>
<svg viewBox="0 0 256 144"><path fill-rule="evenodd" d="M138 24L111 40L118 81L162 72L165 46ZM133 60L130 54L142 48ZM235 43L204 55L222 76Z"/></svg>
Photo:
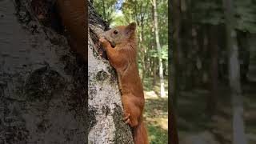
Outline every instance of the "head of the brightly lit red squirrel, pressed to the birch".
<svg viewBox="0 0 256 144"><path fill-rule="evenodd" d="M132 22L128 26L117 26L107 30L102 36L110 42L112 47L118 46L123 42L133 42L136 31L136 23Z"/></svg>

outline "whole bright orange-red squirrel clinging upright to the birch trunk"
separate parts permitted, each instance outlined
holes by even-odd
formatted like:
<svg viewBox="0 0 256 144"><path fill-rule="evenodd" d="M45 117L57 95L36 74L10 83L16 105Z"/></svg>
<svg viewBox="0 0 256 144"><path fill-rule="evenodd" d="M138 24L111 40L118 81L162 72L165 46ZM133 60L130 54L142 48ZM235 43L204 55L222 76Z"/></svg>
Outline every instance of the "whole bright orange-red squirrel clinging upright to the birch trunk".
<svg viewBox="0 0 256 144"><path fill-rule="evenodd" d="M138 74L136 24L117 26L102 34L99 39L110 65L118 73L122 92L124 122L132 127L134 144L148 144L146 126L143 123L144 93Z"/></svg>

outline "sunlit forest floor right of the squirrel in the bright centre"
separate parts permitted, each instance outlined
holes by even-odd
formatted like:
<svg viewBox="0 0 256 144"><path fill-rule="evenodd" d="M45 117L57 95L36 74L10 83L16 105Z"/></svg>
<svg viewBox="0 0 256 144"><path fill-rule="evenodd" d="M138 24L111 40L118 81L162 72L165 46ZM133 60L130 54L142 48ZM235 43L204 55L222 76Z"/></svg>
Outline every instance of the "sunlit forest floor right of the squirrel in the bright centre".
<svg viewBox="0 0 256 144"><path fill-rule="evenodd" d="M160 84L152 86L153 78L144 79L145 111L144 118L147 125L150 144L168 143L168 97L160 98ZM167 79L165 91L168 95Z"/></svg>

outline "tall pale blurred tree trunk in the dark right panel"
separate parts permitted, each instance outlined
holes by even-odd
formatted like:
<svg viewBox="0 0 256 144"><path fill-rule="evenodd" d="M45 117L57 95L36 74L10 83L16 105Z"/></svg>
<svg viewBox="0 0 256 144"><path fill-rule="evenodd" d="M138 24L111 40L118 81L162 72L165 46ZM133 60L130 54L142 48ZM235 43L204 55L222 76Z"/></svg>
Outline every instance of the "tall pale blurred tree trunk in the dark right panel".
<svg viewBox="0 0 256 144"><path fill-rule="evenodd" d="M247 144L243 121L243 100L240 83L240 63L238 61L238 43L234 30L234 3L223 0L226 16L226 40L229 52L230 92L233 106L233 143Z"/></svg>

